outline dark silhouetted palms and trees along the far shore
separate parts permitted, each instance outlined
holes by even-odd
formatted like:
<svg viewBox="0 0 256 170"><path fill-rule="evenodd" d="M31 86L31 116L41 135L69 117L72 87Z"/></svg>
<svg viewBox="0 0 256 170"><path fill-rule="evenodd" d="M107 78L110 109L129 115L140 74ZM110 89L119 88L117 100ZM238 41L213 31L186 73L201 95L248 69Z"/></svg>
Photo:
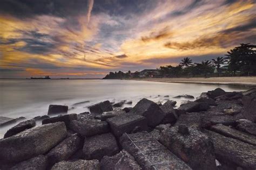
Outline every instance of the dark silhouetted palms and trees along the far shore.
<svg viewBox="0 0 256 170"><path fill-rule="evenodd" d="M256 76L256 45L240 44L227 52L225 57L212 60L203 60L193 63L192 59L185 57L177 66L166 65L158 68L157 77L183 77L183 76ZM215 71L214 71L215 70ZM104 79L139 78L139 72L131 73L110 72Z"/></svg>

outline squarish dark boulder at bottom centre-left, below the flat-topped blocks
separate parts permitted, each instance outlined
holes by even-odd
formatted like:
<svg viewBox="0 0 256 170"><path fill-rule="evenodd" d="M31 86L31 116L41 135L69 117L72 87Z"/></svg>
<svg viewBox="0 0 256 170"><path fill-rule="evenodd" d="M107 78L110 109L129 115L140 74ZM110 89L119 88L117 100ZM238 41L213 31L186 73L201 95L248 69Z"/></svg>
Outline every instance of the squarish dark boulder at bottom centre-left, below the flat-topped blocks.
<svg viewBox="0 0 256 170"><path fill-rule="evenodd" d="M119 152L116 138L111 133L104 133L86 138L84 141L85 159L102 159L104 156L112 156Z"/></svg>

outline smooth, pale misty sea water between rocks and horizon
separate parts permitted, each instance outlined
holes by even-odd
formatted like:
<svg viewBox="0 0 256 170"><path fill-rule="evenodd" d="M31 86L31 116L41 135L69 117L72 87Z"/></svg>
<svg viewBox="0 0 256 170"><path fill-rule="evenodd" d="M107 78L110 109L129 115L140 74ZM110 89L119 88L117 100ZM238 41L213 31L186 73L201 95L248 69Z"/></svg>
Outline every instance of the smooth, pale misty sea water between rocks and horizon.
<svg viewBox="0 0 256 170"><path fill-rule="evenodd" d="M208 85L192 83L160 83L135 80L0 80L0 115L10 118L31 119L45 115L50 104L68 105L68 113L88 111L87 106L100 101L132 100L132 107L140 99L164 103L167 99L177 101L177 106L188 99L174 99L180 94L200 96L201 92L217 87L225 91L243 91L245 86ZM164 97L169 96L169 97ZM76 104L89 101L82 104ZM0 138L11 127L0 128Z"/></svg>

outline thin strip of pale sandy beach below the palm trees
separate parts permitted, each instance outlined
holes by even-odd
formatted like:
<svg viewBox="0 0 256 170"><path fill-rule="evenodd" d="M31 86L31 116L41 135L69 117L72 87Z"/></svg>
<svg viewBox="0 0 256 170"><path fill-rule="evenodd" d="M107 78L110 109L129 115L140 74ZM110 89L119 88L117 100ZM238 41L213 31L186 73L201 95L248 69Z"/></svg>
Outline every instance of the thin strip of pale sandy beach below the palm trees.
<svg viewBox="0 0 256 170"><path fill-rule="evenodd" d="M237 84L256 86L256 77L211 77L211 78L144 78L144 81L159 81L168 83L204 83L204 84Z"/></svg>

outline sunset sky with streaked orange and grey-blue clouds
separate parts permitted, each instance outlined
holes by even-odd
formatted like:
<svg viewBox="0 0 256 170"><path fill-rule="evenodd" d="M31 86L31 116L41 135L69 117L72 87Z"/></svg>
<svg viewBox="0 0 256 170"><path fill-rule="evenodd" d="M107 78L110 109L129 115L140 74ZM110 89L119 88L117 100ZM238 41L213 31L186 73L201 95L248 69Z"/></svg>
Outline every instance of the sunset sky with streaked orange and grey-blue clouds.
<svg viewBox="0 0 256 170"><path fill-rule="evenodd" d="M0 78L103 78L256 44L256 1L1 0Z"/></svg>

